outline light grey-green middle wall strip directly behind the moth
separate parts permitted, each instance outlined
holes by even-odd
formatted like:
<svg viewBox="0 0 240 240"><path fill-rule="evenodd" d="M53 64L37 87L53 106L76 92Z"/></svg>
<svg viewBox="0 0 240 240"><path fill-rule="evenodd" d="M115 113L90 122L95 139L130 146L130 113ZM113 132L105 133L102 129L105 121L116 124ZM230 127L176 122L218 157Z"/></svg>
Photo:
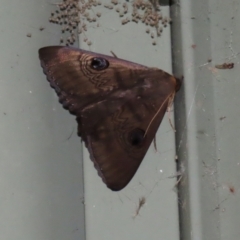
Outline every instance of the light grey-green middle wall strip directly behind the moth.
<svg viewBox="0 0 240 240"><path fill-rule="evenodd" d="M103 1L102 1L103 2ZM169 8L163 8L168 14ZM80 38L81 48L158 67L171 72L170 28L152 45L143 24L121 25L115 11L102 9L99 28L88 28L89 47ZM173 119L173 113L170 113ZM174 189L176 178L174 132L168 117L157 133L157 150L151 146L130 184L120 192L112 192L102 182L84 148L84 182L86 206L86 238L89 240L118 239L179 239L178 198ZM139 198L146 204L134 218Z"/></svg>

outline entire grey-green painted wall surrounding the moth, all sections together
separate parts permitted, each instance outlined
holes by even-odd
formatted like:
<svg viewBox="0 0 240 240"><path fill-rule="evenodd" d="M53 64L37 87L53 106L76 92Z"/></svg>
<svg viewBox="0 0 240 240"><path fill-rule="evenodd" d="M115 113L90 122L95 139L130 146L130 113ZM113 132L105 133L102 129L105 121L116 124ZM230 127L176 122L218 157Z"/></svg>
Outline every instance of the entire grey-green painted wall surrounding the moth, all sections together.
<svg viewBox="0 0 240 240"><path fill-rule="evenodd" d="M239 4L184 0L172 6L174 73L184 75L175 106L180 199L176 179L169 178L176 169L167 117L157 133L158 152L149 149L121 192L106 188L84 148L87 239L179 239L178 202L182 239L239 238ZM85 235L76 122L58 103L37 55L38 48L59 43L59 28L48 24L52 9L47 1L1 2L0 239ZM145 27L123 27L103 11L100 28L88 29L93 45L80 39L81 47L171 72L169 28L152 46ZM234 62L234 69L214 67L224 62ZM146 204L133 218L141 197Z"/></svg>

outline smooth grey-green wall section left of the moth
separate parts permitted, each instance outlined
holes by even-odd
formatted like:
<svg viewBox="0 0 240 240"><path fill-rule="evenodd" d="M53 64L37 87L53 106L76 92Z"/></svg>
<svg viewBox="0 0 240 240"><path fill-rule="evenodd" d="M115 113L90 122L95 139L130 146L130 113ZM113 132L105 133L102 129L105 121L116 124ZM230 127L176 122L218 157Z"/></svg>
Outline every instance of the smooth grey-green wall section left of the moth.
<svg viewBox="0 0 240 240"><path fill-rule="evenodd" d="M1 1L1 240L84 239L76 123L38 60L40 47L59 42L59 29L48 24L52 9L45 0Z"/></svg>

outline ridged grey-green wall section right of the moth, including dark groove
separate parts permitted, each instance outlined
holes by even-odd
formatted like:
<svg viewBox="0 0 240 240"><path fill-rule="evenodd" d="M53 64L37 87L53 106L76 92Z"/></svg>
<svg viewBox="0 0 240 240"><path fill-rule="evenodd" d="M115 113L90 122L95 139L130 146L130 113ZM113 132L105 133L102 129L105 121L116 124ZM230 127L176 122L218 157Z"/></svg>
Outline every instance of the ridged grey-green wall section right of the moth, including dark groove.
<svg viewBox="0 0 240 240"><path fill-rule="evenodd" d="M239 1L180 1L173 7L177 154L182 239L239 239ZM215 65L235 63L234 69ZM231 192L234 189L234 192Z"/></svg>

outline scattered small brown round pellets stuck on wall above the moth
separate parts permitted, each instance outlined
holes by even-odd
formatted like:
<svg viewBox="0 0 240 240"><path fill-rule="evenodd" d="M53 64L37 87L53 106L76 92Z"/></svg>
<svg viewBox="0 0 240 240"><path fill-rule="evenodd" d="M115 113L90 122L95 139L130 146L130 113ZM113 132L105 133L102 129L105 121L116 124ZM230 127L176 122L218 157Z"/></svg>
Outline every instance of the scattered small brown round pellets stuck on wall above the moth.
<svg viewBox="0 0 240 240"><path fill-rule="evenodd" d="M134 0L131 7L131 17L127 16L125 18L124 16L129 13L128 3L120 2L120 0L111 0L108 4L104 4L104 7L110 10L114 9L119 14L119 17L122 18L122 25L130 21L144 23L148 26L146 33L150 34L153 39L152 44L156 45L155 36L160 37L163 27L166 27L171 22L170 18L162 17L158 1ZM55 5L58 9L51 13L49 21L61 25L62 33L68 32L70 34L66 38L65 44L67 46L74 44L77 34L84 34L84 42L90 46L92 42L86 37L87 26L90 23L97 22L98 18L101 17L101 12L94 13L93 11L93 7L102 5L101 1L63 0ZM99 27L99 23L96 26ZM64 43L62 37L60 38L60 43Z"/></svg>

